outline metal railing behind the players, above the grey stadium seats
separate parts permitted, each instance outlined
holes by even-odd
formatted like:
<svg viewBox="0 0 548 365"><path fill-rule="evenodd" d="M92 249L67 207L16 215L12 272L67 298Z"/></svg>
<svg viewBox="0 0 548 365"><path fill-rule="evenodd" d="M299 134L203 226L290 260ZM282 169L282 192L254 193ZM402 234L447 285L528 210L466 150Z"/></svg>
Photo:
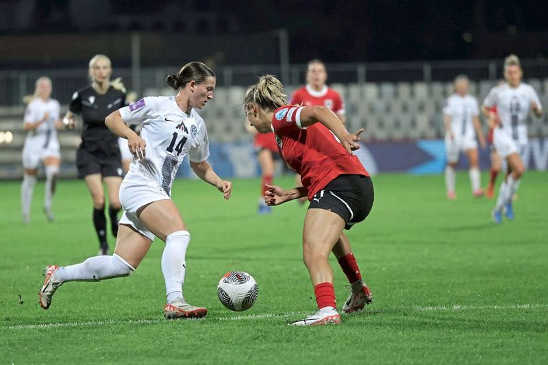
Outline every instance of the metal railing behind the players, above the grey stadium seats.
<svg viewBox="0 0 548 365"><path fill-rule="evenodd" d="M522 60L521 64L527 78L548 77L548 60ZM135 79L135 69L115 67L113 77L122 77L128 90L137 88L140 94L140 90L164 86L166 75L178 67L140 68L138 79ZM279 64L266 64L221 66L215 71L217 86L248 86L256 81L256 76L265 73L284 75L285 84L299 85L305 81L306 64L292 64L288 70ZM502 60L328 64L327 71L328 81L332 84L450 81L459 74L466 74L476 81L495 81L502 77L503 72ZM53 98L66 104L75 90L88 84L87 74L86 68L0 71L0 105L21 105L23 97L32 94L34 82L42 75L51 77L53 81Z"/></svg>

